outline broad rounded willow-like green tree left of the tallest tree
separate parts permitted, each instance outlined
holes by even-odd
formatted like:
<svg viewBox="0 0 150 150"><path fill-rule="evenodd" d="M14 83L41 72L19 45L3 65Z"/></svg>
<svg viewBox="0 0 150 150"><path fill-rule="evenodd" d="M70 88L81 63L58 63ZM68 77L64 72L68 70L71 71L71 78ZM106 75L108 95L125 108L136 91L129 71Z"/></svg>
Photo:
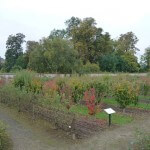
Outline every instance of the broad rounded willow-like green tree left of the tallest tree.
<svg viewBox="0 0 150 150"><path fill-rule="evenodd" d="M28 67L37 72L72 73L78 65L78 53L70 41L44 38L31 52Z"/></svg>

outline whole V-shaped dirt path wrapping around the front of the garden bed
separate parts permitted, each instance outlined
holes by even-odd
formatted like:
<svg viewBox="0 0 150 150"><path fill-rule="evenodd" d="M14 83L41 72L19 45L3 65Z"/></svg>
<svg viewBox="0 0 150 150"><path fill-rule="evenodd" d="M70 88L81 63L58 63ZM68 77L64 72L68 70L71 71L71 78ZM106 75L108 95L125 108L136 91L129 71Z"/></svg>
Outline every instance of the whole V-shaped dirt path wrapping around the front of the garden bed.
<svg viewBox="0 0 150 150"><path fill-rule="evenodd" d="M14 150L128 150L137 129L150 132L149 115L78 141L69 139L65 132L51 129L43 121L33 123L23 114L4 106L0 106L0 120L8 124Z"/></svg>

